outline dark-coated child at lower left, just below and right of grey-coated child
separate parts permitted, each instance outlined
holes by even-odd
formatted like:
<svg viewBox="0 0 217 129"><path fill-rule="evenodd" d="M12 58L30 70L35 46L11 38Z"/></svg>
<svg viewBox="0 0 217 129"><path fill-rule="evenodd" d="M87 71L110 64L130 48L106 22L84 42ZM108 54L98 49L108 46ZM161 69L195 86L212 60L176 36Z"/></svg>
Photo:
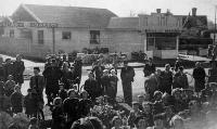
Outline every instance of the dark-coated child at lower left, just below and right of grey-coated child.
<svg viewBox="0 0 217 129"><path fill-rule="evenodd" d="M20 86L15 86L14 92L11 94L11 105L14 114L23 112L23 94Z"/></svg>

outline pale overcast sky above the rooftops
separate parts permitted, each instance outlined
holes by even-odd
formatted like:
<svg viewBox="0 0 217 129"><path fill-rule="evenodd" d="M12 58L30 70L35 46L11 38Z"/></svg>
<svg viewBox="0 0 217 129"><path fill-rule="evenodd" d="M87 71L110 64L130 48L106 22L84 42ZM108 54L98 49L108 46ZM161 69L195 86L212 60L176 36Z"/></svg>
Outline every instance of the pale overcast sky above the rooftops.
<svg viewBox="0 0 217 129"><path fill-rule="evenodd" d="M187 15L195 7L197 14L214 21L217 0L0 0L0 15L11 15L21 3L103 8L118 16L129 16L130 12L150 14L157 8L162 12L169 9L174 14Z"/></svg>

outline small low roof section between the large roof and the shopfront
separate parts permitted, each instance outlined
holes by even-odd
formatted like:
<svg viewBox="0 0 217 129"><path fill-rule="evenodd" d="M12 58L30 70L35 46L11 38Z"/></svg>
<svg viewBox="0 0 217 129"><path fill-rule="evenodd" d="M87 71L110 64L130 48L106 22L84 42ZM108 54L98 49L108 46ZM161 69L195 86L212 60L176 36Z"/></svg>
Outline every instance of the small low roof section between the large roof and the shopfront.
<svg viewBox="0 0 217 129"><path fill-rule="evenodd" d="M138 30L139 17L112 17L107 28Z"/></svg>

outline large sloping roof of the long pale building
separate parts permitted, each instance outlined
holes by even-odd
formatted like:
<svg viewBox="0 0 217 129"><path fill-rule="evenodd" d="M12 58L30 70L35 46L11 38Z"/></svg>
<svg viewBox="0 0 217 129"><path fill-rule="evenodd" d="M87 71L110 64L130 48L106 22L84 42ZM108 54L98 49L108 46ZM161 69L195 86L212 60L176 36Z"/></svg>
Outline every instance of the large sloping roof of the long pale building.
<svg viewBox="0 0 217 129"><path fill-rule="evenodd" d="M33 17L42 23L58 23L60 27L105 28L117 16L106 9L23 4Z"/></svg>

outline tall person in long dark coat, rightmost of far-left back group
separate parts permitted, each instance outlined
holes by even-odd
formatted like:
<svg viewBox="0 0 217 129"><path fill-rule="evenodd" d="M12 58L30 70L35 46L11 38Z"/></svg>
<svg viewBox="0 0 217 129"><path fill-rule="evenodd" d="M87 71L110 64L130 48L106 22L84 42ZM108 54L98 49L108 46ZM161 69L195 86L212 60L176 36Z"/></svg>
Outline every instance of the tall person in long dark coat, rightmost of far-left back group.
<svg viewBox="0 0 217 129"><path fill-rule="evenodd" d="M24 70L25 70L25 65L24 62L22 61L22 56L18 54L16 55L16 61L13 63L14 67L14 80L16 83L22 85L24 83Z"/></svg>

